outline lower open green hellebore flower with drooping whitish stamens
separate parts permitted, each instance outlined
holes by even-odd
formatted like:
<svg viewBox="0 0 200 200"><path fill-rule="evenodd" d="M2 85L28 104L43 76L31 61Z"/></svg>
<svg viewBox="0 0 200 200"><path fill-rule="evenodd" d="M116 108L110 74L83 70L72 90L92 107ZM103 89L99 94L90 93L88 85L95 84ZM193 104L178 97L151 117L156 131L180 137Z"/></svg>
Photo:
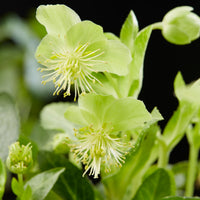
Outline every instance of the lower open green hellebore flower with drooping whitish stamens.
<svg viewBox="0 0 200 200"><path fill-rule="evenodd" d="M101 167L105 172L112 166L121 167L133 147L120 133L143 127L152 118L143 102L132 97L86 94L80 96L78 104L65 113L67 120L81 126L75 129L77 140L71 142L72 152L85 165L84 174L98 178Z"/></svg>

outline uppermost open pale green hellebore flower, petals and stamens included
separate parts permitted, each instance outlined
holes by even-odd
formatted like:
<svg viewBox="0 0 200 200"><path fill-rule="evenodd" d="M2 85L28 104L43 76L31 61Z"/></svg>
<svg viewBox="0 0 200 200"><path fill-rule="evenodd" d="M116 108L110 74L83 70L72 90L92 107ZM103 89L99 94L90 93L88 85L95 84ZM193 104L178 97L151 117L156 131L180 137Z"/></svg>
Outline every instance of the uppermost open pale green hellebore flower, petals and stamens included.
<svg viewBox="0 0 200 200"><path fill-rule="evenodd" d="M76 99L77 94L93 91L91 82L101 84L95 73L128 73L130 51L120 41L108 40L101 26L81 21L64 5L40 6L36 17L47 30L36 50L36 59L46 66L40 69L47 78L42 83L53 81L54 95L64 90L64 97L69 96L73 84Z"/></svg>

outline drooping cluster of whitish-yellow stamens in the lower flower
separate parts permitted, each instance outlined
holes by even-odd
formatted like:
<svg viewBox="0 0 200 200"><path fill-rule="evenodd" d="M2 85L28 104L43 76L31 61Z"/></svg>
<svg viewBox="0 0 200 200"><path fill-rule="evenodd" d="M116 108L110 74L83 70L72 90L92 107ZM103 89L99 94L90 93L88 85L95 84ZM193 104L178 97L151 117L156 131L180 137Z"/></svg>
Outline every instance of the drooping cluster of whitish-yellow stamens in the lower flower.
<svg viewBox="0 0 200 200"><path fill-rule="evenodd" d="M106 128L95 130L92 125L75 130L79 142L73 146L72 152L85 165L83 176L89 172L98 178L102 164L105 172L110 172L112 166L121 167L125 162L127 145L119 138L111 137L111 131Z"/></svg>

